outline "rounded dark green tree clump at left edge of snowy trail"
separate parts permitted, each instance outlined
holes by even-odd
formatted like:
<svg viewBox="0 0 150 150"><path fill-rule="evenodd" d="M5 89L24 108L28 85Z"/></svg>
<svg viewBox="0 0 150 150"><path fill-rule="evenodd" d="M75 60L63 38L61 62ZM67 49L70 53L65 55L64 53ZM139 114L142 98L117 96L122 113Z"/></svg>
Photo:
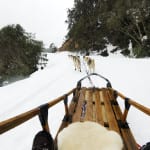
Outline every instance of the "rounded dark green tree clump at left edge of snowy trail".
<svg viewBox="0 0 150 150"><path fill-rule="evenodd" d="M36 71L42 50L43 42L35 40L21 25L3 27L0 30L0 85Z"/></svg>

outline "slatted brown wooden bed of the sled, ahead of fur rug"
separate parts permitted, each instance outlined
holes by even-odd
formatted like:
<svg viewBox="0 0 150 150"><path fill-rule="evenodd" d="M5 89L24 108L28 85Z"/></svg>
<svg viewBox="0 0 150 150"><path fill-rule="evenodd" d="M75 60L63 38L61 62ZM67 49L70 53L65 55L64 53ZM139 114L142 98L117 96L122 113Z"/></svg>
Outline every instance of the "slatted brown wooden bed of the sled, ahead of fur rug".
<svg viewBox="0 0 150 150"><path fill-rule="evenodd" d="M118 132L124 142L124 150L138 149L116 99L116 93L109 88L82 87L76 91L68 108L68 117L65 117L59 132L72 122L94 121Z"/></svg>

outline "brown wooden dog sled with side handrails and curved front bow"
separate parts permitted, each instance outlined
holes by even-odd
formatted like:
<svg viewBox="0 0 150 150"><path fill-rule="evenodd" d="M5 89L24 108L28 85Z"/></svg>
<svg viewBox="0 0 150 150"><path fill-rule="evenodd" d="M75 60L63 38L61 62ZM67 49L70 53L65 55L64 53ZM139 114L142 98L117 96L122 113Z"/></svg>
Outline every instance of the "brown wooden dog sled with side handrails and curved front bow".
<svg viewBox="0 0 150 150"><path fill-rule="evenodd" d="M90 74L98 75L96 73ZM37 107L33 110L20 114L16 117L0 122L0 133L4 133L11 128L18 126L19 124L31 119L32 117L43 113L43 107L47 106L47 109L64 101L65 116L58 129L59 132L73 122L93 121L97 122L109 130L118 132L124 142L124 150L137 150L138 145L134 139L134 136L130 130L130 127L126 121L130 106L134 106L140 111L150 115L150 109L136 103L135 101L125 97L120 92L114 90L108 79L102 77L107 82L106 88L86 88L81 86L82 80L90 78L86 76L82 78L77 87L69 91L65 95L45 104ZM73 94L70 105L68 106L68 96ZM121 112L120 106L117 102L117 97L121 97L124 100L125 109ZM44 116L44 115L43 115ZM45 119L43 117L43 119ZM48 121L45 119L45 123L42 124L44 130L50 132ZM57 135L55 137L55 145L57 145ZM57 149L57 146L56 148Z"/></svg>

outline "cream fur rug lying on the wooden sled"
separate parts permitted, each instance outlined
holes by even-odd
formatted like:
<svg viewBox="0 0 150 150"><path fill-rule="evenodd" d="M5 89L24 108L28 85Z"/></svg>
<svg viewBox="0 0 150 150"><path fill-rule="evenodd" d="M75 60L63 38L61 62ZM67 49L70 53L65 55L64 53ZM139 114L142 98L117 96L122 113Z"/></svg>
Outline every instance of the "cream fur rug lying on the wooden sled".
<svg viewBox="0 0 150 150"><path fill-rule="evenodd" d="M115 131L95 122L76 122L58 135L58 150L122 150L123 142Z"/></svg>

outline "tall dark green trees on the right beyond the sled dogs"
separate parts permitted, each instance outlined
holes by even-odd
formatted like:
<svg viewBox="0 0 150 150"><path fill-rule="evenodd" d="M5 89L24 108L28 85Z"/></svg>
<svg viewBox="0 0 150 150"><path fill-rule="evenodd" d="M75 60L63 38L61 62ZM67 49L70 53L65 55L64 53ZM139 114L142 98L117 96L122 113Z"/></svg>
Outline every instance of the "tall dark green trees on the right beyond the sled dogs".
<svg viewBox="0 0 150 150"><path fill-rule="evenodd" d="M74 0L66 23L71 51L96 50L107 55L107 45L112 44L113 51L121 49L126 56L150 56L149 0Z"/></svg>

